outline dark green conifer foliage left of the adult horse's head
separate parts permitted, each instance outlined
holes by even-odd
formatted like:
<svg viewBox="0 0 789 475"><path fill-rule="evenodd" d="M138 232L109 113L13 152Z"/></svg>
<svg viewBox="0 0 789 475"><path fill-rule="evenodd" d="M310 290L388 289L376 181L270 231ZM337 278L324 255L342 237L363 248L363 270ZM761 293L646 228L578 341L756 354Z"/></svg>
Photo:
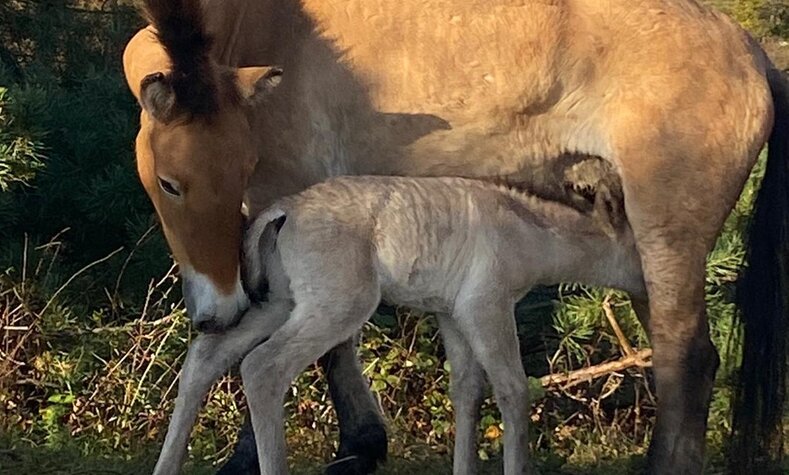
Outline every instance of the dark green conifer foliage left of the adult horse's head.
<svg viewBox="0 0 789 475"><path fill-rule="evenodd" d="M114 1L3 0L0 17L0 268L18 265L25 236L32 247L59 236L53 272L63 275L136 246L129 262L119 254L82 282L122 273L112 297L144 297L169 264L161 237L146 234L153 210L134 168L138 107L121 72L137 12ZM20 182L29 186L10 187ZM71 297L90 304L104 294L94 285Z"/></svg>

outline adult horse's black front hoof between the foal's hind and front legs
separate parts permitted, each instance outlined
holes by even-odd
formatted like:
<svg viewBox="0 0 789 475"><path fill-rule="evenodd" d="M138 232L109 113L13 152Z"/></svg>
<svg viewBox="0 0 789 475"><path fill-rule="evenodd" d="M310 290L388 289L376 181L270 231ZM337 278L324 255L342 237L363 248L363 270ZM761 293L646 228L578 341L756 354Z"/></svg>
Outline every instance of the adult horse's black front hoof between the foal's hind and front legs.
<svg viewBox="0 0 789 475"><path fill-rule="evenodd" d="M340 436L340 450L326 466L326 475L368 475L386 461L386 429L367 425L354 434Z"/></svg>

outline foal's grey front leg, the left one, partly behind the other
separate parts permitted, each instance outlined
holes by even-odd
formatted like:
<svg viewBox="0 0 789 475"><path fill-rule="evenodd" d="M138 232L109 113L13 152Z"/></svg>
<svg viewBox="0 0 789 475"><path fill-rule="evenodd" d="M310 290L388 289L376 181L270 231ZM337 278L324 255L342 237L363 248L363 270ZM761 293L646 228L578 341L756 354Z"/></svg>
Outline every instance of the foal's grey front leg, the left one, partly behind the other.
<svg viewBox="0 0 789 475"><path fill-rule="evenodd" d="M450 395L455 411L452 473L477 473L477 428L485 389L485 372L452 317L438 315L439 330L451 366Z"/></svg>

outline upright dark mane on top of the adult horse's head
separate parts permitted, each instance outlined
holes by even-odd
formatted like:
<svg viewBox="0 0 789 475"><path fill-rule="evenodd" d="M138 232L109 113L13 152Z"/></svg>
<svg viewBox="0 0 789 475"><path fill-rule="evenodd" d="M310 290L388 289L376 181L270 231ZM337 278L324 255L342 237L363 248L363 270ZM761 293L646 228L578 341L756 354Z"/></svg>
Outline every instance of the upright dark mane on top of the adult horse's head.
<svg viewBox="0 0 789 475"><path fill-rule="evenodd" d="M200 0L145 0L143 13L172 62L169 81L178 107L196 115L217 112L219 87L210 61L212 38L205 30Z"/></svg>

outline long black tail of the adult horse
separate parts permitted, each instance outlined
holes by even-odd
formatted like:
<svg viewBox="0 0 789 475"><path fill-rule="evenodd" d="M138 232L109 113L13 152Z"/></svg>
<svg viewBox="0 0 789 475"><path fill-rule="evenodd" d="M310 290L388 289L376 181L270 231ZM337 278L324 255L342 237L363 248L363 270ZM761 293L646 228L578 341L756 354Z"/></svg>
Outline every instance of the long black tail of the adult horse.
<svg viewBox="0 0 789 475"><path fill-rule="evenodd" d="M783 455L789 332L789 83L776 69L768 73L768 80L775 124L750 222L747 266L738 285L744 342L735 393L734 473L765 473Z"/></svg>

